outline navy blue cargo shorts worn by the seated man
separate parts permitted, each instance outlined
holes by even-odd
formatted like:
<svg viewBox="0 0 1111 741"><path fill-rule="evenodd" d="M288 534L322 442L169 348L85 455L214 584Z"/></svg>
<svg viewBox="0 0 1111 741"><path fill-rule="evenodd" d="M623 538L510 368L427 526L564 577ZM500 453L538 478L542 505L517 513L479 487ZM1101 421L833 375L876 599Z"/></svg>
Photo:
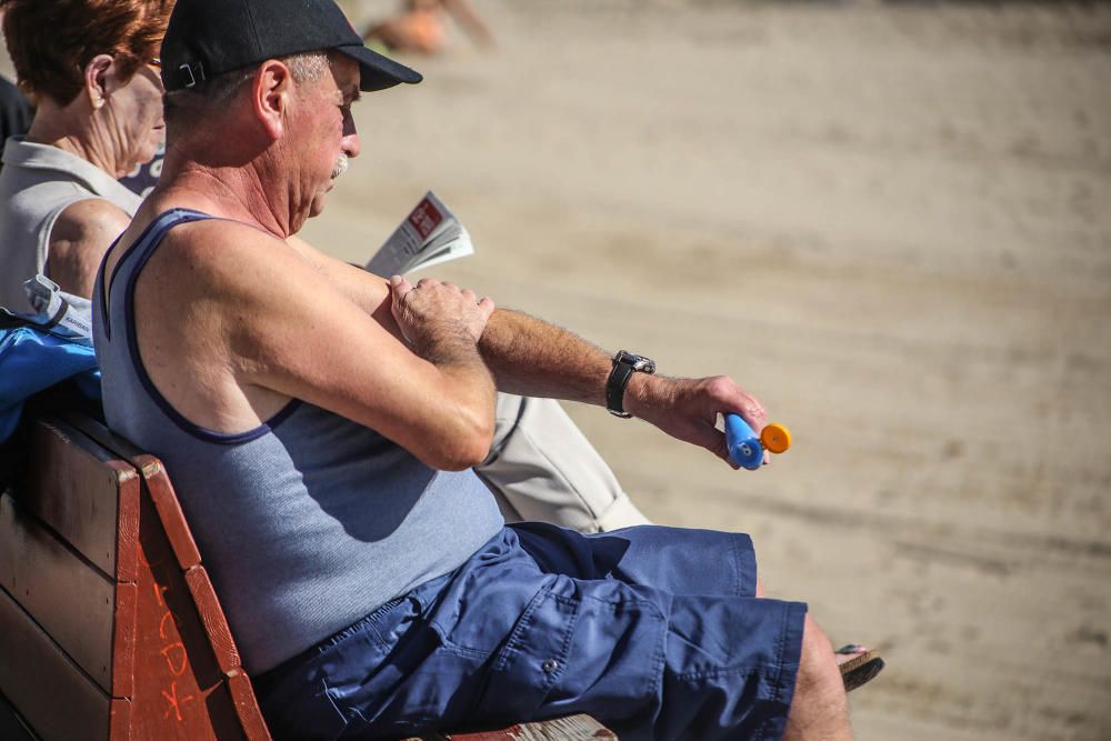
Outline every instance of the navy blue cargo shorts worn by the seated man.
<svg viewBox="0 0 1111 741"><path fill-rule="evenodd" d="M504 529L256 681L276 739L584 712L637 739L779 739L805 604L755 599L748 535Z"/></svg>

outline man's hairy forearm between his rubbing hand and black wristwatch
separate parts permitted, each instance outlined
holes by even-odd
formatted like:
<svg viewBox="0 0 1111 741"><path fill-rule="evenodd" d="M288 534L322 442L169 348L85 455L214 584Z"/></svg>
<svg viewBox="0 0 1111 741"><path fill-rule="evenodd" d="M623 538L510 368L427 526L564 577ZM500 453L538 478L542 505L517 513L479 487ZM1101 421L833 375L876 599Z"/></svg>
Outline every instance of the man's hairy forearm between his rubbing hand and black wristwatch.
<svg viewBox="0 0 1111 741"><path fill-rule="evenodd" d="M610 356L565 329L498 309L487 322L479 351L501 391L605 403Z"/></svg>

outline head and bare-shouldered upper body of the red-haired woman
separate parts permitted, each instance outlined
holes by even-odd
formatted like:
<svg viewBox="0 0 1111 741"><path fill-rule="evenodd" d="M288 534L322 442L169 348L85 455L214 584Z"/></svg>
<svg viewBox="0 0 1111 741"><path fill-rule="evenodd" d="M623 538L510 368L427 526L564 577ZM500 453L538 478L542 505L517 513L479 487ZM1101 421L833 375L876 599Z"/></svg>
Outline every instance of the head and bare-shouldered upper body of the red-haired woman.
<svg viewBox="0 0 1111 741"><path fill-rule="evenodd" d="M87 297L139 197L117 180L162 139L159 47L173 0L0 0L19 87L36 104L0 170L0 306L30 309L46 273Z"/></svg>

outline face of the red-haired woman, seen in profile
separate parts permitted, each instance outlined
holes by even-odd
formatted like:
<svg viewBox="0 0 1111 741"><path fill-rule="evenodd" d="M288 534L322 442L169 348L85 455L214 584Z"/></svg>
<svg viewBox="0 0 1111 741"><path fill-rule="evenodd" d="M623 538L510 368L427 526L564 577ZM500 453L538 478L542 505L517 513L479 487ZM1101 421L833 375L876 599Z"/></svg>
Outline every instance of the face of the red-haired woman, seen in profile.
<svg viewBox="0 0 1111 741"><path fill-rule="evenodd" d="M127 84L108 96L106 123L117 154L118 177L154 159L166 136L162 81L153 64L141 66Z"/></svg>

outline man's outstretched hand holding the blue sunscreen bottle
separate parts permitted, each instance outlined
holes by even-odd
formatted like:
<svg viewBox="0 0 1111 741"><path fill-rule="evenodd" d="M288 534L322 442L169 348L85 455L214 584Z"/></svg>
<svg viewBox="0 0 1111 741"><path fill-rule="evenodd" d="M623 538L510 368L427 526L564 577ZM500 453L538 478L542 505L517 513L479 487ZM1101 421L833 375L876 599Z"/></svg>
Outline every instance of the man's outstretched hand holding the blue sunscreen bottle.
<svg viewBox="0 0 1111 741"><path fill-rule="evenodd" d="M715 427L718 414L740 414L757 434L768 423L760 401L728 375L674 379L633 373L625 387L624 407L633 417L673 438L705 448L734 469L740 467L730 459L725 434Z"/></svg>

